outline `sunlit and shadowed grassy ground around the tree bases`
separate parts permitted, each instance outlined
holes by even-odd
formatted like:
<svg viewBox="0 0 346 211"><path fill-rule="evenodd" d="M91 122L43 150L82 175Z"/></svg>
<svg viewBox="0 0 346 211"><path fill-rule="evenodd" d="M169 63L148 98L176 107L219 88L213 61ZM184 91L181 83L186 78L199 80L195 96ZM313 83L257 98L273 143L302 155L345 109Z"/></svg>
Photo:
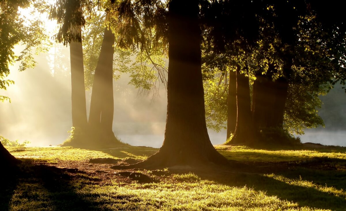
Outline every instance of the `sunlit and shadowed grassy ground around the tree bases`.
<svg viewBox="0 0 346 211"><path fill-rule="evenodd" d="M231 167L113 170L158 149L7 147L25 162L0 173L0 210L346 210L346 147L215 147Z"/></svg>

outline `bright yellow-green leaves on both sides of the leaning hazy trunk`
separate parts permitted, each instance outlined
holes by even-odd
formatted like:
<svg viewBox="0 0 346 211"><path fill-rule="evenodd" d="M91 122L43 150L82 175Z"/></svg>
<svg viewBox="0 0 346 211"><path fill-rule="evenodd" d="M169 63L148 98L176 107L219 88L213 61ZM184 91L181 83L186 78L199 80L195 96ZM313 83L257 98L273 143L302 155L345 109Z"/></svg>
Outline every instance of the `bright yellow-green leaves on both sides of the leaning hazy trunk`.
<svg viewBox="0 0 346 211"><path fill-rule="evenodd" d="M111 16L111 15L109 15ZM97 12L86 19L83 30L83 61L85 69L85 87L88 89L93 83L93 74L100 55L103 31L106 26L106 15ZM109 20L108 20L109 21ZM112 19L117 22L118 20ZM119 23L120 24L120 23ZM113 25L111 25L113 26ZM120 39L120 29L112 29L116 39ZM154 36L154 35L151 35ZM148 39L154 39L150 37ZM120 48L119 43L115 45L113 57L113 78L118 79L121 74L130 74L129 84L139 89L139 92L157 91L160 83L166 85L168 67L163 49L159 41L158 46L147 44L145 48ZM157 84L159 83L159 84Z"/></svg>

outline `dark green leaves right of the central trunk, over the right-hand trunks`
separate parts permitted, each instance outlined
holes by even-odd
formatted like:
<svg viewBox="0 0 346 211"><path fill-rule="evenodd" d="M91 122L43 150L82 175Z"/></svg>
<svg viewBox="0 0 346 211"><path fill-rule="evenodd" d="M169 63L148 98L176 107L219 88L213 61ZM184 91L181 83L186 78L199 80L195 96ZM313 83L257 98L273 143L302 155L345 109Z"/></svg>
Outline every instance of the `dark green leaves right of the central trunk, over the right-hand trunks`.
<svg viewBox="0 0 346 211"><path fill-rule="evenodd" d="M273 7L267 9L271 10ZM317 113L317 108L321 107L318 96L325 95L338 79L343 83L342 73L346 71L344 60L340 59L344 57L346 48L339 44L344 42L344 38L340 40L337 31L328 34L320 30L320 23L311 14L300 17L295 23L292 32L298 39L294 44L283 42L283 38L275 31L274 23L266 22L265 19L260 19L259 23L261 32L255 45L244 46L244 40L235 40L234 47L226 46L224 51L218 54L210 50L213 46L209 48L204 46L202 52L206 95L209 94L209 81L217 81L217 78L221 80L220 77L227 67L239 66L241 69L246 67L247 73L244 73L249 76L250 81L258 76L266 77L268 80L279 78L288 80L289 89L284 113L285 130L304 134L305 128L324 126L322 118ZM285 69L288 60L292 61L292 65ZM207 118L210 118L209 113L212 111L209 106L224 105L222 98L216 100L206 96L205 101ZM220 116L222 112L220 115L215 115L213 121L221 120L220 124L208 124L208 127L220 130L226 114L223 112L224 117Z"/></svg>

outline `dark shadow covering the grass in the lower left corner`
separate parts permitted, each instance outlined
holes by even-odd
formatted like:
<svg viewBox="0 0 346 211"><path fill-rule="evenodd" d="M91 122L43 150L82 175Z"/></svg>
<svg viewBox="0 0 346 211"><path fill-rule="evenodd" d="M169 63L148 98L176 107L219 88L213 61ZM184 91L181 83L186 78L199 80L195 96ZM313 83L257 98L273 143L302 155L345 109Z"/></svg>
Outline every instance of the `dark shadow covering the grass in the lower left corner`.
<svg viewBox="0 0 346 211"><path fill-rule="evenodd" d="M3 210L106 210L100 209L94 195L78 193L92 178L75 179L62 169L27 162L16 173L1 177Z"/></svg>

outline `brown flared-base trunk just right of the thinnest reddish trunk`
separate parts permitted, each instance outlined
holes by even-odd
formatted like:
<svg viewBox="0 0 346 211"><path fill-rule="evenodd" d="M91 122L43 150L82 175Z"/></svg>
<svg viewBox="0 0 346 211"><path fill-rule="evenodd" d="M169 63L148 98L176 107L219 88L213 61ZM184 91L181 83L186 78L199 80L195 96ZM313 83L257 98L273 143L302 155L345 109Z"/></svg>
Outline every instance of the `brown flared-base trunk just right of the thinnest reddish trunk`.
<svg viewBox="0 0 346 211"><path fill-rule="evenodd" d="M254 128L251 115L249 78L237 67L237 124L232 140L226 144L253 144Z"/></svg>

